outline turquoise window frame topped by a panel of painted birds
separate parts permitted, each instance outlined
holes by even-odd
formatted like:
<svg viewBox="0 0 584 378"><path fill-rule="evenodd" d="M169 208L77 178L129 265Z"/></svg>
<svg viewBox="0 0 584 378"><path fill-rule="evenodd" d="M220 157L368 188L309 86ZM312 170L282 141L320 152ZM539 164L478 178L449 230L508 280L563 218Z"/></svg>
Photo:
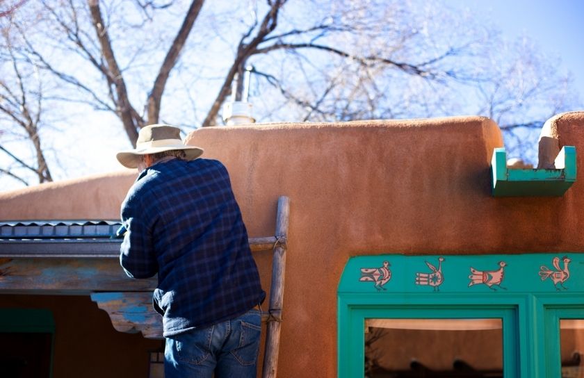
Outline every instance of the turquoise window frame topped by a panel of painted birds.
<svg viewBox="0 0 584 378"><path fill-rule="evenodd" d="M350 258L338 290L339 377L364 375L368 318L498 318L505 377L560 376L559 320L584 319L584 254L444 257Z"/></svg>

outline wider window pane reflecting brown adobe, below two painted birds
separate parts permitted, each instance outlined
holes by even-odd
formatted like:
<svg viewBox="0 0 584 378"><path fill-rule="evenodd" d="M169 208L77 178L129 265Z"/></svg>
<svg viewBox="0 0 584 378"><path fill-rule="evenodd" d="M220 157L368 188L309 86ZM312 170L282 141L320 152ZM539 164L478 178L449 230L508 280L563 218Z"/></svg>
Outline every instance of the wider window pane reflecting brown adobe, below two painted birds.
<svg viewBox="0 0 584 378"><path fill-rule="evenodd" d="M501 319L367 319L365 376L503 377Z"/></svg>

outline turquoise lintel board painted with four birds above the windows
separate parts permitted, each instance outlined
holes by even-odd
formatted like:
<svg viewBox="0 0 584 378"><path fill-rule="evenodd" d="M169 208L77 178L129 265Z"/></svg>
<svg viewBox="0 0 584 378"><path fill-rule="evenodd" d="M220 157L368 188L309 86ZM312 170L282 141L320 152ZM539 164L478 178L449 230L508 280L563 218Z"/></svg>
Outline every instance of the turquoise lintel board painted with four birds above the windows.
<svg viewBox="0 0 584 378"><path fill-rule="evenodd" d="M380 296L584 293L584 254L356 256L348 261L338 292Z"/></svg>

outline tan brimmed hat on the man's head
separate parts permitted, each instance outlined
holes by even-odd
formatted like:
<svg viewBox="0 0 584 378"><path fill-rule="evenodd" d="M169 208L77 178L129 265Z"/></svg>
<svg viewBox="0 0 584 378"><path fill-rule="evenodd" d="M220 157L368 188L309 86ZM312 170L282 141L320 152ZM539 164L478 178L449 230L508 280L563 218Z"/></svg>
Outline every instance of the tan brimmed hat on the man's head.
<svg viewBox="0 0 584 378"><path fill-rule="evenodd" d="M181 130L168 124L151 124L140 129L136 149L118 152L115 157L124 167L136 168L142 155L157 154L163 151L182 149L186 160L195 160L203 153L203 149L184 145L181 140Z"/></svg>

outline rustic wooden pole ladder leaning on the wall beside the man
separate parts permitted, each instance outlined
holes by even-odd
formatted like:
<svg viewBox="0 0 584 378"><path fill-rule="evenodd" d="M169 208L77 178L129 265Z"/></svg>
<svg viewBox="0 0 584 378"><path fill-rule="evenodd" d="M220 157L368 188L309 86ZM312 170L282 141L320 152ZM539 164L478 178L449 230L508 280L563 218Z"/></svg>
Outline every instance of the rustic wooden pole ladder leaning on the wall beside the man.
<svg viewBox="0 0 584 378"><path fill-rule="evenodd" d="M273 250L272 284L267 313L262 313L261 320L267 324L266 346L263 352L262 378L274 378L278 368L278 351L280 328L282 327L282 302L284 299L284 270L286 268L286 249L288 240L288 218L290 199L279 197L276 215L275 236L268 238L250 238L253 252Z"/></svg>

